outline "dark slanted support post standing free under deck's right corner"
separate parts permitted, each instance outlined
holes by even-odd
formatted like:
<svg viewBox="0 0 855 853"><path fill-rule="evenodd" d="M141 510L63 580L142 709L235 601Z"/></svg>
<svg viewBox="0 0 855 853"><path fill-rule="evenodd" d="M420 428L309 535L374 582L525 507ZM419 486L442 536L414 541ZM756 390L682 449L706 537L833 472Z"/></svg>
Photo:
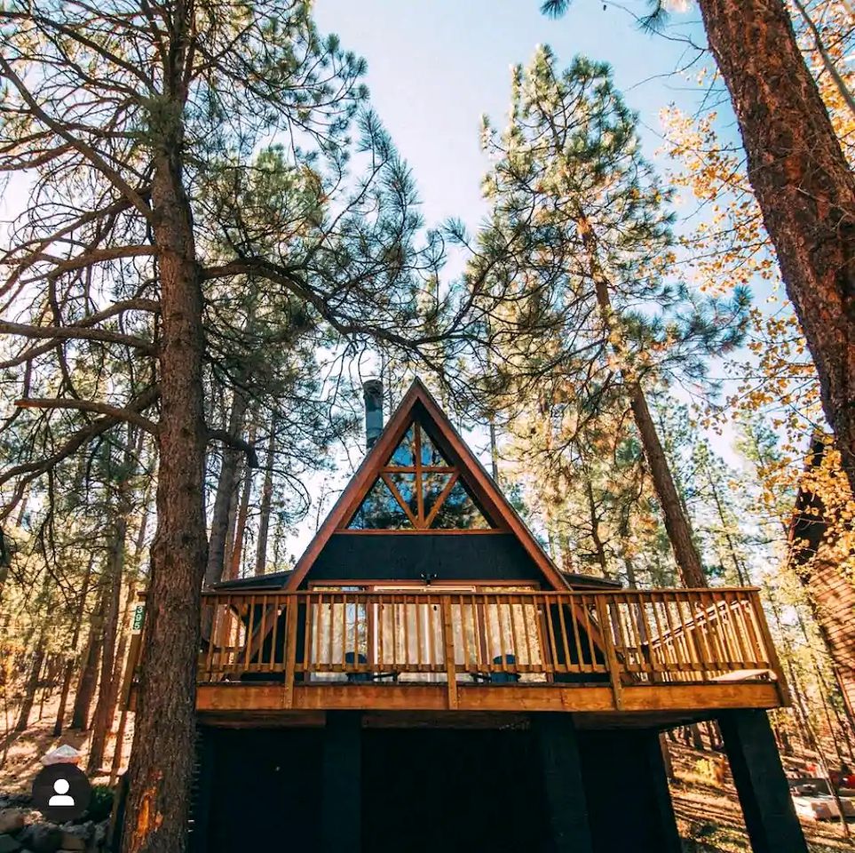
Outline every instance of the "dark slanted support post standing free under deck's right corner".
<svg viewBox="0 0 855 853"><path fill-rule="evenodd" d="M807 853L766 712L723 711L718 724L751 849L754 853Z"/></svg>

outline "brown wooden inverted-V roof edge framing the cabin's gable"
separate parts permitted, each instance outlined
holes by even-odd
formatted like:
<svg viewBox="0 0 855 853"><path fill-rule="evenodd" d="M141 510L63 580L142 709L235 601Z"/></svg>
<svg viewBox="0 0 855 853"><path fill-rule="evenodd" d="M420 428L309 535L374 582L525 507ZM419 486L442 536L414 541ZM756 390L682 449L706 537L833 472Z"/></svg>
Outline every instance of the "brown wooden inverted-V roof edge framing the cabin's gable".
<svg viewBox="0 0 855 853"><path fill-rule="evenodd" d="M518 539L526 554L552 588L567 589L568 583L565 576L543 551L531 530L526 527L526 523L505 498L493 478L487 474L484 466L419 379L413 381L374 446L368 450L362 464L353 474L335 506L329 511L321 528L306 546L294 570L289 572L284 588L297 589L303 583L324 546L329 542L329 538L336 531L343 530L352 519L353 514L368 495L368 490L376 482L381 469L398 447L409 426L416 420L427 429L439 450L458 470L460 478L477 498L487 517L499 529L513 534Z"/></svg>

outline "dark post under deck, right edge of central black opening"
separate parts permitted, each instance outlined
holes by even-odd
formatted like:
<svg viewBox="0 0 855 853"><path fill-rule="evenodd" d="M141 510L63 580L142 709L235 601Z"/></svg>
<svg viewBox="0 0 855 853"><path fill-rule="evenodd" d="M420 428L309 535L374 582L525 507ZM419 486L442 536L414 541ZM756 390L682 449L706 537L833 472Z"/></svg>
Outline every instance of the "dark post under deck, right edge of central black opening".
<svg viewBox="0 0 855 853"><path fill-rule="evenodd" d="M576 728L569 713L535 713L532 733L555 853L593 853Z"/></svg>

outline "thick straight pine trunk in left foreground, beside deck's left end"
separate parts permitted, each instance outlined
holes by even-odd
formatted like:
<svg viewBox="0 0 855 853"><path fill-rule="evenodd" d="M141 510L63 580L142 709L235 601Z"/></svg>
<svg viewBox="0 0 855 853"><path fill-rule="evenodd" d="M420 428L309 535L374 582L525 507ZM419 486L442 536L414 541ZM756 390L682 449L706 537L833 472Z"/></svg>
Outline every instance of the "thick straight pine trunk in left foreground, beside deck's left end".
<svg viewBox="0 0 855 853"><path fill-rule="evenodd" d="M191 9L172 11L166 91L186 100ZM171 115L164 112L162 115ZM205 530L202 276L182 184L178 120L159 138L152 208L161 284L161 419L157 530L151 548L146 634L129 768L123 853L184 853L194 766L196 655L200 637Z"/></svg>

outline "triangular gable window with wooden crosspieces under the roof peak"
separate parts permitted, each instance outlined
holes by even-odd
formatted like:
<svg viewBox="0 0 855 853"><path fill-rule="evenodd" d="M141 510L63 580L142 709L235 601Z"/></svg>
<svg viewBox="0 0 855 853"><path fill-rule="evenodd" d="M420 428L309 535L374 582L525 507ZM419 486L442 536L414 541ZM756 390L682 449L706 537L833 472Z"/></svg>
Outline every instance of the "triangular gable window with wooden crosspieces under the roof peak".
<svg viewBox="0 0 855 853"><path fill-rule="evenodd" d="M411 424L353 515L350 530L489 530L460 472Z"/></svg>

